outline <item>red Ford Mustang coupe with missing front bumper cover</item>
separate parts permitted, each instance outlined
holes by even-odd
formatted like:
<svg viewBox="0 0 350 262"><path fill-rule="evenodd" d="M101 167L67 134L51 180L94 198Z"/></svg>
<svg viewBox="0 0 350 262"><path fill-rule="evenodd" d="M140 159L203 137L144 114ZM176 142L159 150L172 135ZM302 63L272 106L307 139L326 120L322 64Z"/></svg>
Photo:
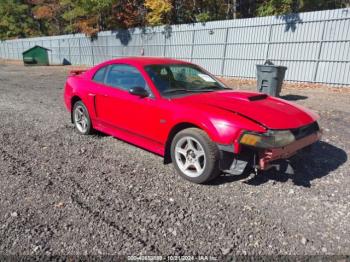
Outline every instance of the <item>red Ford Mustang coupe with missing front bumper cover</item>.
<svg viewBox="0 0 350 262"><path fill-rule="evenodd" d="M320 139L318 116L295 104L227 88L204 69L163 58L124 58L72 71L64 100L81 134L113 135L204 183L220 172L265 170Z"/></svg>

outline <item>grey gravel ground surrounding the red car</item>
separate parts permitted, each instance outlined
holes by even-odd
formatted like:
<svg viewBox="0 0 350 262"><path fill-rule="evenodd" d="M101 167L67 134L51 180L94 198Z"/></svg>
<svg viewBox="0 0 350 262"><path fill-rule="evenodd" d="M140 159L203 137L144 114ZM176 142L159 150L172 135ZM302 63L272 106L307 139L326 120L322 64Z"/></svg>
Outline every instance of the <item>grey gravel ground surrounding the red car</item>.
<svg viewBox="0 0 350 262"><path fill-rule="evenodd" d="M113 137L80 136L64 67L0 64L0 253L350 254L350 94L286 89L324 136L294 169L196 185Z"/></svg>

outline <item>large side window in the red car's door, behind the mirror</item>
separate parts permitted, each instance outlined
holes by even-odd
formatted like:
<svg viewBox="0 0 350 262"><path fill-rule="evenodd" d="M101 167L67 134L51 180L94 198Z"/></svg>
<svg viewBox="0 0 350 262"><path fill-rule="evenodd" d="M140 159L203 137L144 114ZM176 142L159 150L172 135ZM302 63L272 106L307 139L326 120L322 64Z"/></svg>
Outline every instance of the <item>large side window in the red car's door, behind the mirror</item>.
<svg viewBox="0 0 350 262"><path fill-rule="evenodd" d="M146 81L141 73L129 65L112 65L109 67L106 85L128 91L133 87L143 87L147 90Z"/></svg>

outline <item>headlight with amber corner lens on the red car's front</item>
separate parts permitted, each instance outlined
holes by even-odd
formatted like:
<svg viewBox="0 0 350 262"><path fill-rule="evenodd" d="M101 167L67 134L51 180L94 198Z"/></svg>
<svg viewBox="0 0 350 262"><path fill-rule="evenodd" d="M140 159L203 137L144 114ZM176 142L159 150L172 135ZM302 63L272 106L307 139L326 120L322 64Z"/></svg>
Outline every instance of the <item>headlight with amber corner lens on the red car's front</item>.
<svg viewBox="0 0 350 262"><path fill-rule="evenodd" d="M295 137L289 130L269 131L267 133L244 133L240 143L261 148L283 147L295 141Z"/></svg>

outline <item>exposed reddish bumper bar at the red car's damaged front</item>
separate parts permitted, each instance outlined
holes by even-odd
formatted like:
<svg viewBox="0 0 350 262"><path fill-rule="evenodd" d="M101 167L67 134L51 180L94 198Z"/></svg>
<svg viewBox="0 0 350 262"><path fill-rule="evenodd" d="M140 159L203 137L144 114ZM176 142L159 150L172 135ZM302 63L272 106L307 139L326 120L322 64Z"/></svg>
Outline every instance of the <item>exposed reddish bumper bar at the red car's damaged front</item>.
<svg viewBox="0 0 350 262"><path fill-rule="evenodd" d="M259 168L266 170L269 168L269 163L278 160L286 159L293 156L299 150L320 140L322 133L317 131L311 135L294 141L293 143L281 148L269 148L259 153Z"/></svg>

